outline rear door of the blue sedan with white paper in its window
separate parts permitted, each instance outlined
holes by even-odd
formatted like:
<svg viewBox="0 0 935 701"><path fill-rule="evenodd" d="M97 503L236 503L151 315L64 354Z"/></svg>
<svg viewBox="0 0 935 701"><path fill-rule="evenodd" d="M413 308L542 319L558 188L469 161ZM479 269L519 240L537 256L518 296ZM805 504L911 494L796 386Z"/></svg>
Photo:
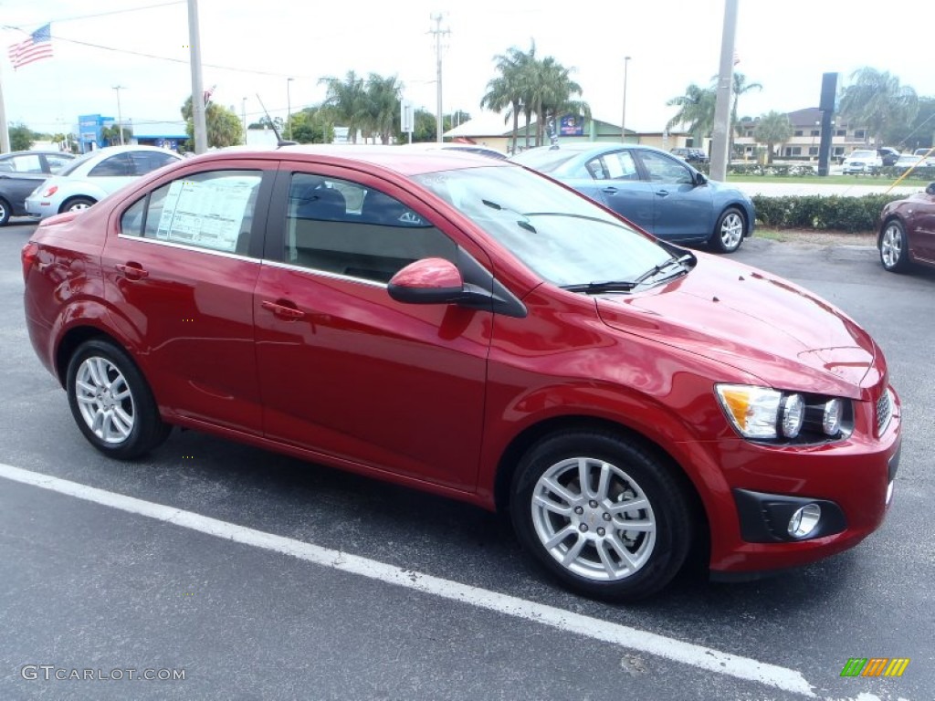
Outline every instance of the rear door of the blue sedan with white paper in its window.
<svg viewBox="0 0 935 701"><path fill-rule="evenodd" d="M640 179L629 149L601 153L584 165L588 178L576 190L622 214L646 231L653 231L653 191ZM587 190L585 190L585 187Z"/></svg>

